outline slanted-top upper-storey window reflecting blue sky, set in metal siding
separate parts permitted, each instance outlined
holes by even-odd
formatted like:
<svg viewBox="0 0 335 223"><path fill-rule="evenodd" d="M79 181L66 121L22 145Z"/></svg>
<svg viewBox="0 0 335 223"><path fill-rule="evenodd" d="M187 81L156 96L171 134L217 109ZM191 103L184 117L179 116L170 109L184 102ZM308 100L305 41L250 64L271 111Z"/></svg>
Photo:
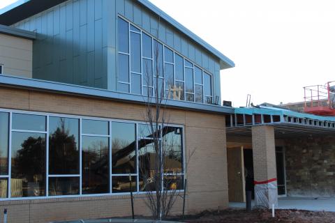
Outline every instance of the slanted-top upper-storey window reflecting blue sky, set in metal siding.
<svg viewBox="0 0 335 223"><path fill-rule="evenodd" d="M117 91L154 95L158 89L165 98L211 103L209 72L121 17L118 33Z"/></svg>

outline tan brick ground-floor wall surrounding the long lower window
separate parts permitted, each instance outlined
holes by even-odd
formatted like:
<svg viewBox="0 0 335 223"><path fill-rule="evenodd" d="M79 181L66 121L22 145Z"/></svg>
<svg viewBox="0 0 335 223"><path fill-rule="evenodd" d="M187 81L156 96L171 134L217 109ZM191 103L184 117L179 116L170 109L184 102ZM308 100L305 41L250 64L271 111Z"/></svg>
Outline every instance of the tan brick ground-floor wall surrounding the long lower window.
<svg viewBox="0 0 335 223"><path fill-rule="evenodd" d="M144 120L143 105L74 95L0 88L0 108L22 109L135 121ZM168 110L169 122L185 126L186 212L228 207L225 116L204 112ZM193 155L191 155L193 154ZM136 195L135 213L148 215L143 195ZM181 212L181 200L174 213ZM8 208L9 222L49 222L113 216L130 216L129 196L80 197L0 201L0 213ZM0 216L1 217L1 216Z"/></svg>

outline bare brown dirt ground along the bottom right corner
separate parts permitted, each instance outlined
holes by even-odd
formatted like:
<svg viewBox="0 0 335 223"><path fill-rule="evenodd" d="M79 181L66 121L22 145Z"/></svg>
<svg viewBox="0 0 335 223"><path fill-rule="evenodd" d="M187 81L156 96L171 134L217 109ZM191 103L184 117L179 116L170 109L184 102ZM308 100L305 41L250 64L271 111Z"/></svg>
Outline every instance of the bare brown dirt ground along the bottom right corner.
<svg viewBox="0 0 335 223"><path fill-rule="evenodd" d="M205 211L198 215L186 216L183 222L202 223L202 222L219 222L219 223L263 223L263 222L335 222L335 213L323 211L308 210L276 210L275 217L271 216L271 210L253 210L247 213L246 210L226 209L219 213Z"/></svg>

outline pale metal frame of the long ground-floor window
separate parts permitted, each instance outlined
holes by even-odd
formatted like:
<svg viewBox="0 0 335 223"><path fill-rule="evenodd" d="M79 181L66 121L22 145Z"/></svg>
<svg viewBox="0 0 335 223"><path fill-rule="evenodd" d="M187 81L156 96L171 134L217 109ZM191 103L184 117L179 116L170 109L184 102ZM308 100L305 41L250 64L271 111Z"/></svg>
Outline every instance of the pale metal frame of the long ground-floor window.
<svg viewBox="0 0 335 223"><path fill-rule="evenodd" d="M112 192L112 176L116 176L112 174L112 122L120 122L120 123L134 123L135 124L135 140L136 140L136 159L138 160L138 144L137 140L139 139L138 135L138 125L140 124L147 124L145 121L129 121L129 120L124 120L124 119L117 119L117 118L100 118L100 117L92 117L92 116L77 116L77 115L70 115L70 114L57 114L57 113L49 113L49 112L30 112L30 111L24 111L24 110L16 110L16 109L0 109L0 112L7 112L9 114L9 126L8 126L8 175L2 175L0 178L6 178L8 180L7 184L7 197L6 198L0 198L0 201L10 201L10 200L31 200L31 199L54 199L54 198L68 198L68 197L99 197L99 196L119 196L119 195L129 195L131 194L130 192L119 192L119 193L113 193ZM13 121L13 113L17 114L30 114L30 115L39 115L39 116L45 116L46 118L46 130L45 132L40 132L40 131L29 131L29 130L22 130L22 132L36 132L36 133L43 133L45 134L45 196L43 197L10 197L10 179L11 179L11 146L12 146L12 121ZM52 175L49 174L49 137L50 137L50 132L49 132L49 118L50 117L61 117L61 118L77 118L79 119L79 128L80 128L80 136L79 136L79 152L80 152L80 174L61 174L59 176L62 177L79 177L80 178L80 192L79 194L70 194L70 195L50 195L49 194L49 177L56 177L58 175ZM82 119L87 119L87 120L96 120L96 121L107 121L108 126L109 126L109 171L110 171L110 180L109 180L109 187L110 190L107 193L101 193L101 194L82 194L82 136L86 136L87 134L82 134ZM175 124L166 124L165 126L171 126L171 127L176 127L176 128L181 128L182 130L182 135L181 135L181 151L182 151L182 165L183 165L183 171L182 173L178 173L177 175L183 176L183 182L185 183L186 180L186 160L185 160L185 127L184 125L175 125ZM15 131L15 130L14 130ZM89 134L91 135L91 134ZM93 136L93 135L92 135ZM100 135L97 135L100 136ZM107 135L106 135L107 137ZM133 193L135 194L145 194L146 192L141 192L139 190L139 169L138 169L138 161L136 162L136 169L137 173L132 174L132 176L137 176L137 191L134 191ZM127 174L128 176L128 174ZM163 184L163 180L162 180ZM177 192L184 192L184 190L176 190Z"/></svg>

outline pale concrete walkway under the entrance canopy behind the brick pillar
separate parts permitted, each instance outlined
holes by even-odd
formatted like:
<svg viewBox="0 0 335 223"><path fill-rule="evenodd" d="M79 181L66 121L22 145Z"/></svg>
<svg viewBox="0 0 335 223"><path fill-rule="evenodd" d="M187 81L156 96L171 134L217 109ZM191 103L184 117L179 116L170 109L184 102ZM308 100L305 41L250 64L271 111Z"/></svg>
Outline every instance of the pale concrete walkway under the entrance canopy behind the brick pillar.
<svg viewBox="0 0 335 223"><path fill-rule="evenodd" d="M230 208L246 208L246 203L230 202ZM252 206L254 202L252 201ZM278 199L278 209L325 210L335 212L335 197L283 197Z"/></svg>

